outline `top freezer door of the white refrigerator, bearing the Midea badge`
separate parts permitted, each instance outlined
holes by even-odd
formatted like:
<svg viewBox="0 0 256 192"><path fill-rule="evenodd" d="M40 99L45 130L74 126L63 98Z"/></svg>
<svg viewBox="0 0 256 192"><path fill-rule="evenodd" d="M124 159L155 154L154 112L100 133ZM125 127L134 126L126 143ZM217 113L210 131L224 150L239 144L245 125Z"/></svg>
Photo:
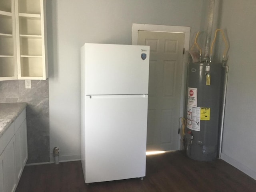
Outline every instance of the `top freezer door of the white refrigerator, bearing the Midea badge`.
<svg viewBox="0 0 256 192"><path fill-rule="evenodd" d="M149 51L149 46L85 44L85 94L148 94Z"/></svg>

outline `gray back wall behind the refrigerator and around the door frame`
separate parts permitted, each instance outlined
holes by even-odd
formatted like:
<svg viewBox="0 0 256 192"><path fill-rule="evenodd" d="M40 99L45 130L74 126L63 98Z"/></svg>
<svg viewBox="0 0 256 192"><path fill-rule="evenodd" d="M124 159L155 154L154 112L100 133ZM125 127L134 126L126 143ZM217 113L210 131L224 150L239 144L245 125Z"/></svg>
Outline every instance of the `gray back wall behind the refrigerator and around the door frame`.
<svg viewBox="0 0 256 192"><path fill-rule="evenodd" d="M205 24L204 0L48 0L50 151L80 158L80 47L85 42L131 44L132 23ZM52 160L52 156L51 156Z"/></svg>

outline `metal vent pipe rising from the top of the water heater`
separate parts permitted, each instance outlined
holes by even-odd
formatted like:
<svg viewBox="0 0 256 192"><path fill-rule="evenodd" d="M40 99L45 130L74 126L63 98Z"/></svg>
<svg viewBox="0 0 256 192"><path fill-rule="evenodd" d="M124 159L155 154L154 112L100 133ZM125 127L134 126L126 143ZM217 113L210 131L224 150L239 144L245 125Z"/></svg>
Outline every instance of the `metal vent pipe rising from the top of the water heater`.
<svg viewBox="0 0 256 192"><path fill-rule="evenodd" d="M207 25L207 31L206 31L205 52L204 52L204 58L206 60L208 60L209 52L210 52L210 42L211 42L211 36L212 36L214 4L215 4L215 0L210 0L210 2L209 2L209 12L208 12L208 25Z"/></svg>

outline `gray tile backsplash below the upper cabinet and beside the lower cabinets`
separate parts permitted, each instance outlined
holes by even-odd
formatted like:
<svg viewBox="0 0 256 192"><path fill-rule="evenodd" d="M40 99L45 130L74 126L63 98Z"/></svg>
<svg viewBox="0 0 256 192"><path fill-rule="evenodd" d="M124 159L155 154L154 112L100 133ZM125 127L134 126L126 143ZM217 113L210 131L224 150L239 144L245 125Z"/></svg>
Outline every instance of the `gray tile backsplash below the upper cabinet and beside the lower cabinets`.
<svg viewBox="0 0 256 192"><path fill-rule="evenodd" d="M26 102L28 162L50 161L49 138L49 84L48 80L31 80L31 89L25 80L0 81L0 102Z"/></svg>

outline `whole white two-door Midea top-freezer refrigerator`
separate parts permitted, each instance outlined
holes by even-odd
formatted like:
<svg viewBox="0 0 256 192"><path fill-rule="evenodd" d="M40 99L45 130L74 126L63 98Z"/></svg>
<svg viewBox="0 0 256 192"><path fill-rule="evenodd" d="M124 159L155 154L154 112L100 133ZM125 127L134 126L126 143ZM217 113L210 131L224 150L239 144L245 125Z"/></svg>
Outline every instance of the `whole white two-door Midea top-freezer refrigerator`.
<svg viewBox="0 0 256 192"><path fill-rule="evenodd" d="M81 159L85 183L146 175L149 46L81 48Z"/></svg>

